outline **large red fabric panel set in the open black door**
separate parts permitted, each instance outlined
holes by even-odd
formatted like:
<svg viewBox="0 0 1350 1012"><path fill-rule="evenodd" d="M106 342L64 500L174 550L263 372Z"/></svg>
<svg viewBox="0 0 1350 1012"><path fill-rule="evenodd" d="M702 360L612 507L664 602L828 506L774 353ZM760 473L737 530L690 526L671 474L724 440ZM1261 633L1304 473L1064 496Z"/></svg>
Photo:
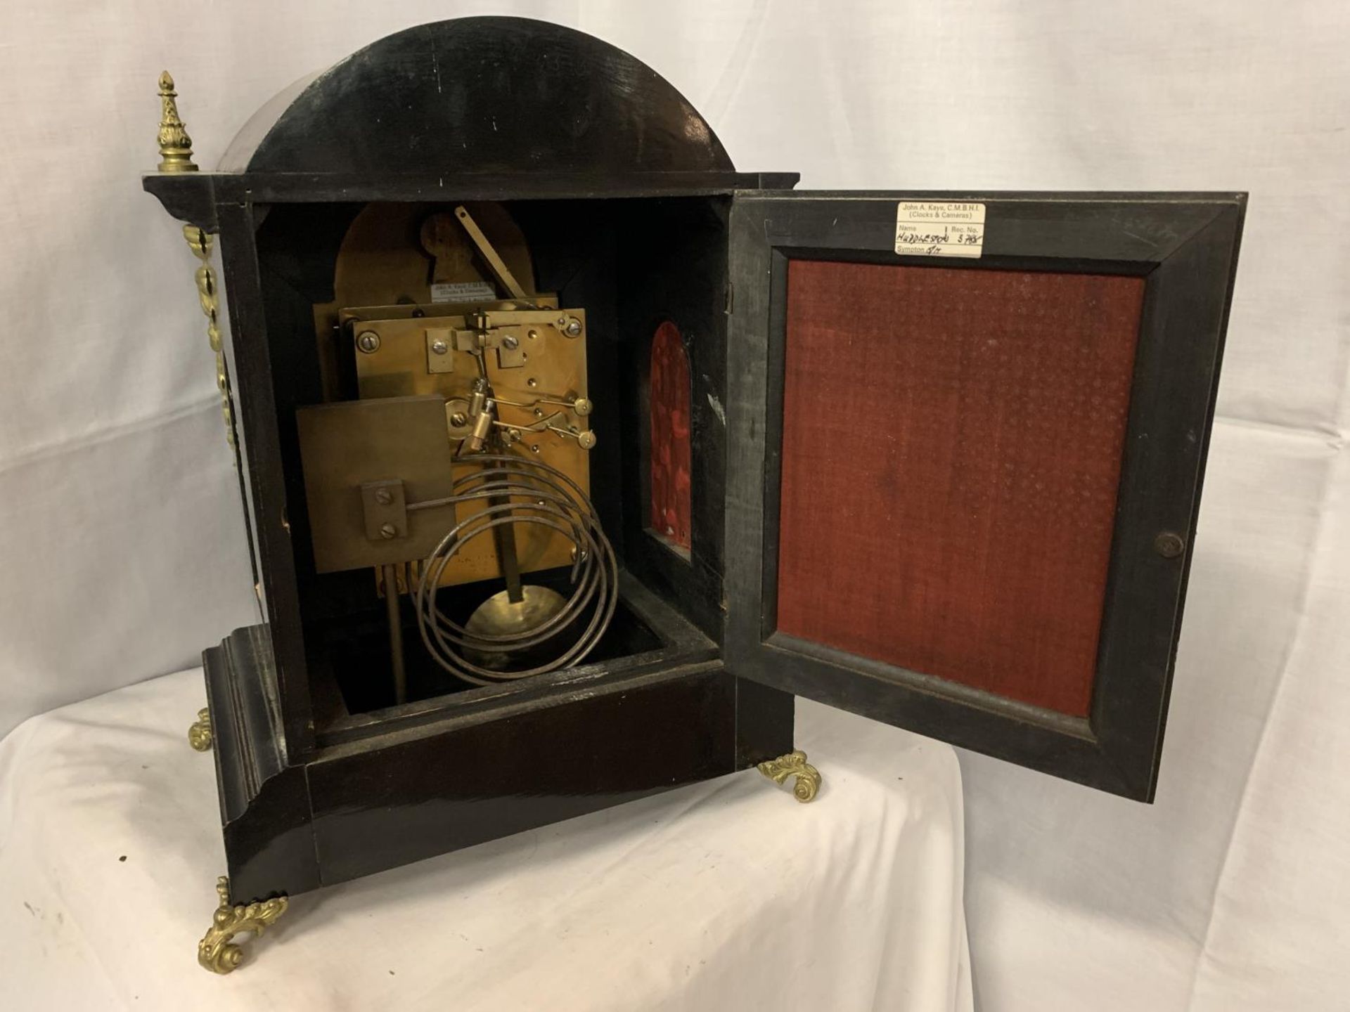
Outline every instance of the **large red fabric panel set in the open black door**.
<svg viewBox="0 0 1350 1012"><path fill-rule="evenodd" d="M779 630L1087 715L1142 298L792 260Z"/></svg>

